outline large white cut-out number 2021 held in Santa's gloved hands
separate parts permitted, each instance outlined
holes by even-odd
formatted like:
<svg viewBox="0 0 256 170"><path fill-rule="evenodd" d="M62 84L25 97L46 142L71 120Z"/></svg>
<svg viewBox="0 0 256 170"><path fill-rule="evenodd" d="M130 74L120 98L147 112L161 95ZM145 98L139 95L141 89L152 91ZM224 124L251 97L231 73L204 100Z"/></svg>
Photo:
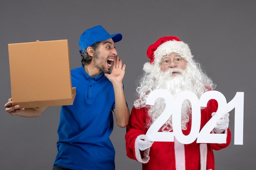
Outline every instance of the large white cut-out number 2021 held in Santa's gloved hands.
<svg viewBox="0 0 256 170"><path fill-rule="evenodd" d="M152 91L147 98L146 104L154 105L155 100L162 97L166 101L166 107L162 114L154 121L148 129L146 135L150 141L174 141L174 137L182 144L191 144L196 140L197 143L226 143L227 134L211 133L216 121L220 117L235 108L234 120L234 144L243 145L243 110L244 93L236 92L235 97L227 103L225 96L218 91L207 91L200 99L191 91L183 91L174 99L173 95L164 89ZM181 107L185 99L191 102L192 123L189 135L184 135L181 129ZM200 130L201 106L206 107L210 99L218 102L216 114ZM173 132L158 132L158 129L173 116Z"/></svg>

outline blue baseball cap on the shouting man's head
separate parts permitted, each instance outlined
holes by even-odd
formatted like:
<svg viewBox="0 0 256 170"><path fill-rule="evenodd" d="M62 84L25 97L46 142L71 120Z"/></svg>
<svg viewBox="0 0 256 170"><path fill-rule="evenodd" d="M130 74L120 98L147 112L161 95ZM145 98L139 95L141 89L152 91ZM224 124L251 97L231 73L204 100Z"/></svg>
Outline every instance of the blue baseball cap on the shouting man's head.
<svg viewBox="0 0 256 170"><path fill-rule="evenodd" d="M101 25L87 29L82 33L79 40L79 46L81 48L80 53L85 51L88 46L110 38L112 38L114 42L119 42L122 40L122 35L120 33L110 35Z"/></svg>

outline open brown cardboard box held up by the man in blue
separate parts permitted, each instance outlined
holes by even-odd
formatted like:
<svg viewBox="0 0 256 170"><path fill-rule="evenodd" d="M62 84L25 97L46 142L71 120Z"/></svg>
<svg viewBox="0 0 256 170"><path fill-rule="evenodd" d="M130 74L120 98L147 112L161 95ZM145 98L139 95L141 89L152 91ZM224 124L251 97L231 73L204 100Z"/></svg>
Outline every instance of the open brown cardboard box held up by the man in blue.
<svg viewBox="0 0 256 170"><path fill-rule="evenodd" d="M67 40L8 44L13 105L20 108L72 105Z"/></svg>

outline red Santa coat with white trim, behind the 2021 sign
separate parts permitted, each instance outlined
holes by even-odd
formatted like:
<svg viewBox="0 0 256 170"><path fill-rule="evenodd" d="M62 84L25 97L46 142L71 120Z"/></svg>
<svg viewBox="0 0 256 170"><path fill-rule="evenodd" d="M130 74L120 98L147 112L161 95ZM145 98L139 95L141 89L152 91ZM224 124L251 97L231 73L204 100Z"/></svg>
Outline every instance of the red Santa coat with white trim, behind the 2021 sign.
<svg viewBox="0 0 256 170"><path fill-rule="evenodd" d="M201 127L211 119L211 113L216 112L218 103L210 100L207 107L201 110ZM135 139L139 135L145 135L146 121L150 119L147 108L132 108L129 124L127 126L126 152L127 156L142 163L142 170L214 170L213 150L220 150L229 146L231 132L227 134L226 144L199 144L194 141L191 144L181 144L176 139L174 142L154 142L153 145L140 151L135 145ZM188 135L191 129L191 121L187 124L188 129L182 130Z"/></svg>

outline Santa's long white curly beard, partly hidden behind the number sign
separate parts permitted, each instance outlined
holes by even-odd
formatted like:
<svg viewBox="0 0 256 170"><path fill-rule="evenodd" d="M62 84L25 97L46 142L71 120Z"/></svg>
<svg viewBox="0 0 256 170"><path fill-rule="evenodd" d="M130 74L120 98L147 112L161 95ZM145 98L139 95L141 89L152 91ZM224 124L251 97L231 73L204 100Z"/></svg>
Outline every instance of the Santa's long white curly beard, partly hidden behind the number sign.
<svg viewBox="0 0 256 170"><path fill-rule="evenodd" d="M179 72L180 74L172 75L173 72ZM169 91L175 98L182 91L193 91L194 87L191 79L188 78L188 73L180 69L170 69L166 72L160 71L156 75L156 88L155 89L165 89ZM149 126L161 115L164 111L166 103L163 98L156 100L155 105L151 106L148 110L148 115L151 117L151 121L148 122ZM181 108L181 125L182 129L186 130L186 123L191 117L191 104L189 100L184 100ZM172 128L172 116L166 121L162 126L161 131L171 131Z"/></svg>

